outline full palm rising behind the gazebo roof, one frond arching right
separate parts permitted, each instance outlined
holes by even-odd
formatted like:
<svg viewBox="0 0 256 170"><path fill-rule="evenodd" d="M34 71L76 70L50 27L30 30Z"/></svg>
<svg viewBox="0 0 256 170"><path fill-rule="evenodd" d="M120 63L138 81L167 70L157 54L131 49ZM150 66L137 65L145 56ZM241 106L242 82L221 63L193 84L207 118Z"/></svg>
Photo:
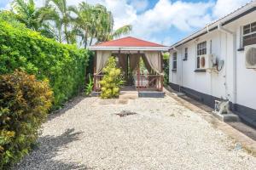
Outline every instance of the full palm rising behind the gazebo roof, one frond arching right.
<svg viewBox="0 0 256 170"><path fill-rule="evenodd" d="M113 31L113 14L103 5L92 6L88 3L79 3L79 7L72 7L73 13L77 14L74 25L77 35L81 37L84 48L91 45L93 40L105 42L120 37L131 31L130 25L122 26Z"/></svg>

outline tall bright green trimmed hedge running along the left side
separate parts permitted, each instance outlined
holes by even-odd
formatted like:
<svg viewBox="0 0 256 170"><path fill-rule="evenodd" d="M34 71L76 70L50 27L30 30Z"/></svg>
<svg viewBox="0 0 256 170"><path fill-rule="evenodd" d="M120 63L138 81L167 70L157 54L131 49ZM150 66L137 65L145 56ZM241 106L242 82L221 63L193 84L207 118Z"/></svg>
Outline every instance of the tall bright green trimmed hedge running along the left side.
<svg viewBox="0 0 256 170"><path fill-rule="evenodd" d="M75 45L61 44L0 20L0 74L19 68L38 80L49 79L55 106L83 88L88 56L88 51Z"/></svg>

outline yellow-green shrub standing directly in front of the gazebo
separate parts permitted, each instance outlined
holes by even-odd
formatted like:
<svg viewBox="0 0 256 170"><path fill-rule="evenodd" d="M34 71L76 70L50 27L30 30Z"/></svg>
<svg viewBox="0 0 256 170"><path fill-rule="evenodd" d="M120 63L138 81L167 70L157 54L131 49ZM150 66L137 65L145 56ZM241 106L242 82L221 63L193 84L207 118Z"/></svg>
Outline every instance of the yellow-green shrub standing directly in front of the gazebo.
<svg viewBox="0 0 256 170"><path fill-rule="evenodd" d="M124 83L121 70L117 68L114 57L108 59L106 67L103 68L104 77L100 84L102 85L102 99L111 99L119 97L120 86Z"/></svg>

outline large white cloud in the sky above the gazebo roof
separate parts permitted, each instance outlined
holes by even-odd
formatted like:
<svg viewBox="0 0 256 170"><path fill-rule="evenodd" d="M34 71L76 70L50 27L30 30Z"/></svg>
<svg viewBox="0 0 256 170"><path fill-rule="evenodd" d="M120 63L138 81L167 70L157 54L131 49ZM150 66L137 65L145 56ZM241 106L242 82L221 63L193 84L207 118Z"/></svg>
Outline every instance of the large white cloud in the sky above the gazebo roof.
<svg viewBox="0 0 256 170"><path fill-rule="evenodd" d="M211 20L207 10L213 3L185 3L160 0L154 8L137 16L133 25L133 34L137 37L152 39L154 33L168 31L176 27L180 31L191 31L204 26ZM196 10L200 8L200 10ZM167 35L168 36L168 35ZM162 42L158 40L157 42ZM165 42L167 42L165 40Z"/></svg>

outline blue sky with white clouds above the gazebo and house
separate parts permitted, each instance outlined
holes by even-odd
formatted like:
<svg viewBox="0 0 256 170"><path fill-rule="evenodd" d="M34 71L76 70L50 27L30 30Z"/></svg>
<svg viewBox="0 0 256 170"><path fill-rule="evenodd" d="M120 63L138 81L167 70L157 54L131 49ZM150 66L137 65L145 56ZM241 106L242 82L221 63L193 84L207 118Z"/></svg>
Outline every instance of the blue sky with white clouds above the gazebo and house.
<svg viewBox="0 0 256 170"><path fill-rule="evenodd" d="M35 0L38 7L44 0ZM212 20L251 0L67 0L69 5L102 3L114 16L114 28L131 24L130 36L171 45ZM0 0L0 8L10 8L11 0Z"/></svg>

